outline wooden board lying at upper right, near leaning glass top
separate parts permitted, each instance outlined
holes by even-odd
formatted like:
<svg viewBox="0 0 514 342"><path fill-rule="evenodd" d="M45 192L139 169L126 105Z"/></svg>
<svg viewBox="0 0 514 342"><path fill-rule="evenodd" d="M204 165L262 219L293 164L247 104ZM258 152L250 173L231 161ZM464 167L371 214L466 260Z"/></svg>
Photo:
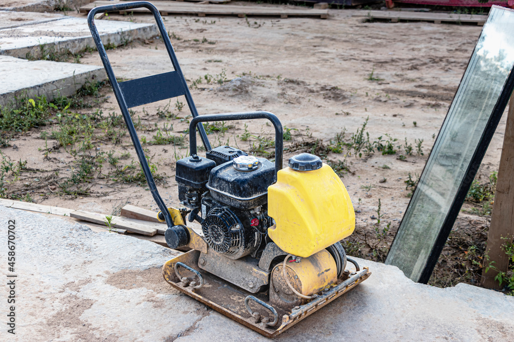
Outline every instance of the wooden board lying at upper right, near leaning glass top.
<svg viewBox="0 0 514 342"><path fill-rule="evenodd" d="M405 11L359 11L352 16L363 16L370 19L391 19L397 23L400 20L425 21L440 24L443 22L452 23L476 23L484 25L487 15L457 14L457 13L426 13L426 12L405 12Z"/></svg>

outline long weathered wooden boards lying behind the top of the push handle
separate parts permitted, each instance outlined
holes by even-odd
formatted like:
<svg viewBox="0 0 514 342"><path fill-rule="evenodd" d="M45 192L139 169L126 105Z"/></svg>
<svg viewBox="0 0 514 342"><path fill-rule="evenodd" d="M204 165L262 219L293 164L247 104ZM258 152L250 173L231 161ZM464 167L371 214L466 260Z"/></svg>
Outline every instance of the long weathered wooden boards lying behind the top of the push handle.
<svg viewBox="0 0 514 342"><path fill-rule="evenodd" d="M80 8L82 13L87 13L95 7L103 5L115 5L119 1L95 1L84 5ZM198 5L192 3L176 2L176 1L153 1L153 5L157 7L161 15L169 14L193 14L198 16L206 15L237 15L245 16L280 16L287 18L288 16L311 16L325 19L328 17L328 10L318 9L288 9L283 7L264 7L264 6L234 6L234 5ZM136 8L133 12L150 12L146 8Z"/></svg>

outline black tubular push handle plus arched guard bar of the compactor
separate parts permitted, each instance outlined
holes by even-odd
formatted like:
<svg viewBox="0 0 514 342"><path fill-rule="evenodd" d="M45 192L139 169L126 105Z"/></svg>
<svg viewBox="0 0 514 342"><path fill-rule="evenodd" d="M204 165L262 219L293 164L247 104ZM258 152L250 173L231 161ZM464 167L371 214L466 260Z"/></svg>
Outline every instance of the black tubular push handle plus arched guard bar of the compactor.
<svg viewBox="0 0 514 342"><path fill-rule="evenodd" d="M162 41L166 46L166 50L168 51L168 55L170 56L171 63L175 71L162 73L158 75L152 75L148 77L136 78L125 82L118 82L114 74L113 68L111 66L111 63L109 62L109 58L107 57L107 53L102 43L100 34L98 33L98 30L96 28L95 15L98 13L127 11L141 7L147 8L150 10L150 12L152 12L157 23L160 35L162 37ZM150 171L150 167L148 166L148 162L144 155L141 143L139 142L139 138L137 136L136 129L134 128L134 124L132 122L130 113L128 112L128 108L142 106L149 103L157 102L159 100L184 95L186 97L189 110L193 115L193 120L190 124L190 148L191 151L194 150L194 153L192 154L196 154L196 126L198 122L267 118L273 123L273 126L275 127L276 172L282 169L283 130L279 119L274 114L269 112L248 112L198 116L198 111L196 110L193 98L191 97L191 93L186 83L186 79L182 74L182 71L177 61L177 57L175 55L175 51L173 50L173 47L171 45L170 37L168 36L166 28L164 28L164 23L162 22L162 18L159 14L159 11L154 5L145 1L137 1L131 3L95 7L94 9L89 11L89 14L87 15L87 24L89 25L89 31L93 36L96 47L98 49L98 53L100 54L100 58L102 59L102 63L107 73L107 77L109 78L109 82L111 83L114 94L116 95L118 105L121 109L121 113L123 114L123 119L125 120L125 125L127 126L128 133L130 134L130 137L132 139L132 144L134 145L134 148L136 150L139 163L141 164L141 168L143 170L146 183L148 183L148 187L150 188L152 196L155 202L157 203L157 206L159 207L160 211L164 215L164 220L166 221L166 224L169 228L168 230L172 229L175 232L175 234L172 235L174 235L175 237L178 236L178 240L180 240L182 243L185 241L185 239L187 239L187 236L185 235L187 233L185 231L182 231L183 229L175 229L174 227L171 214L169 213L166 204L164 204L162 197L159 195L159 192L155 185L152 172ZM207 138L207 133L205 132L203 125L200 125L198 127L198 133L200 135L202 143L204 144L205 150L211 150L211 145L209 143L209 139Z"/></svg>

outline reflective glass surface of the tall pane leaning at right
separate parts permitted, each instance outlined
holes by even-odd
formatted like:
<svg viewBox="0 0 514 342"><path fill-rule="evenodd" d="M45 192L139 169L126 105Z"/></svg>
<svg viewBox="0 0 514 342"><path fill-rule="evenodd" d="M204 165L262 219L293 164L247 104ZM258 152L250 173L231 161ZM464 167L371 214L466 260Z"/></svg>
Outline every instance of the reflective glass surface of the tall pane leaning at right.
<svg viewBox="0 0 514 342"><path fill-rule="evenodd" d="M427 265L513 63L514 11L494 6L386 260L414 281Z"/></svg>

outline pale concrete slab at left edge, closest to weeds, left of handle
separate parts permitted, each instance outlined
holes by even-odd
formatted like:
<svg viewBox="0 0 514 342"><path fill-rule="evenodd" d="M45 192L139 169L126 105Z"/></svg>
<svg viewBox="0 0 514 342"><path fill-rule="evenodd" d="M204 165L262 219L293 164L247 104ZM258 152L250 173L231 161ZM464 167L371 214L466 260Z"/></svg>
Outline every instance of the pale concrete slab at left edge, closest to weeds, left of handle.
<svg viewBox="0 0 514 342"><path fill-rule="evenodd" d="M103 67L51 61L27 61L0 56L0 106L13 104L14 97L70 96L86 81L106 78Z"/></svg>

